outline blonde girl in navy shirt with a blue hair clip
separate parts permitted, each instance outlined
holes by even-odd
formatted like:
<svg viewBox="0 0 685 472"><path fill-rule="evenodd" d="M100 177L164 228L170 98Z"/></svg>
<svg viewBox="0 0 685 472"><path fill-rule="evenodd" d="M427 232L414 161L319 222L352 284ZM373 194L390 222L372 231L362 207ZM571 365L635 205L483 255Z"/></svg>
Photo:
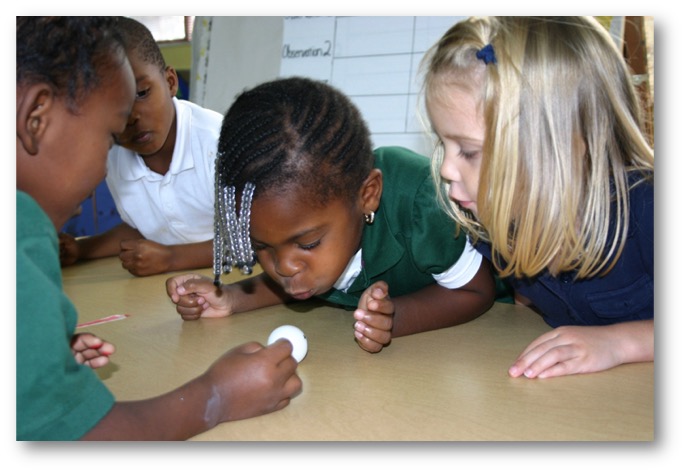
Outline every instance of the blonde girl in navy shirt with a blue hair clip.
<svg viewBox="0 0 685 472"><path fill-rule="evenodd" d="M552 326L513 377L654 359L654 153L590 17L454 25L424 59L444 209Z"/></svg>

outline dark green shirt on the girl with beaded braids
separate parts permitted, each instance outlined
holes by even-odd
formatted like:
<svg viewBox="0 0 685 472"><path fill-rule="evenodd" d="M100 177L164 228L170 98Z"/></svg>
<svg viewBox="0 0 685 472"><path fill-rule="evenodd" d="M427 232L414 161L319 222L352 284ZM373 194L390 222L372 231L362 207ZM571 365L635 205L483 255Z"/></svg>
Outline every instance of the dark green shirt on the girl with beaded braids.
<svg viewBox="0 0 685 472"><path fill-rule="evenodd" d="M319 296L354 309L364 290L387 282L391 297L436 283L459 259L466 234L439 207L430 159L400 147L374 151L383 173L383 194L373 224L364 227L362 271L347 292L331 289Z"/></svg>

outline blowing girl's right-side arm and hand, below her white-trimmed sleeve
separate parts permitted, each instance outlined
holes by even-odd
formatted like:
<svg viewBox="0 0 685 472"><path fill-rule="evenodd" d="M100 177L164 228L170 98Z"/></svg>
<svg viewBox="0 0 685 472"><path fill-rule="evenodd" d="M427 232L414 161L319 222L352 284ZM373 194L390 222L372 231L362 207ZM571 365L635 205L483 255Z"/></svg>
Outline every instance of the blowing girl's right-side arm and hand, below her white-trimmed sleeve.
<svg viewBox="0 0 685 472"><path fill-rule="evenodd" d="M387 285L374 284L354 312L355 336L363 349L380 351L390 338L447 328L471 321L495 299L490 263L483 258L476 275L458 289L438 284L390 300Z"/></svg>

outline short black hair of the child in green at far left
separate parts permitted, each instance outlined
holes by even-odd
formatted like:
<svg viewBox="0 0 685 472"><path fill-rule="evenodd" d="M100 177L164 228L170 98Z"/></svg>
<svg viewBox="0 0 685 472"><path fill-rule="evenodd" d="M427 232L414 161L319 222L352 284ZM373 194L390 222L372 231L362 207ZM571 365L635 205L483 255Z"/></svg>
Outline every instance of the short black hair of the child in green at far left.
<svg viewBox="0 0 685 472"><path fill-rule="evenodd" d="M74 111L118 66L112 58L123 46L115 25L113 17L18 16L17 84L49 84Z"/></svg>

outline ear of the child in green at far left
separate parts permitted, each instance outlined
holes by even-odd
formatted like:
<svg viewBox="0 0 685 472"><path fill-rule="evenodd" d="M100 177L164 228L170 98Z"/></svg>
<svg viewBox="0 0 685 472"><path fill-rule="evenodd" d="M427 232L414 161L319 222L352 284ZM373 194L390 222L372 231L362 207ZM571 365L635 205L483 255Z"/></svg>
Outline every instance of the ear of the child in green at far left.
<svg viewBox="0 0 685 472"><path fill-rule="evenodd" d="M17 144L21 144L27 154L38 154L54 103L52 89L40 83L25 86L23 94L17 99Z"/></svg>

